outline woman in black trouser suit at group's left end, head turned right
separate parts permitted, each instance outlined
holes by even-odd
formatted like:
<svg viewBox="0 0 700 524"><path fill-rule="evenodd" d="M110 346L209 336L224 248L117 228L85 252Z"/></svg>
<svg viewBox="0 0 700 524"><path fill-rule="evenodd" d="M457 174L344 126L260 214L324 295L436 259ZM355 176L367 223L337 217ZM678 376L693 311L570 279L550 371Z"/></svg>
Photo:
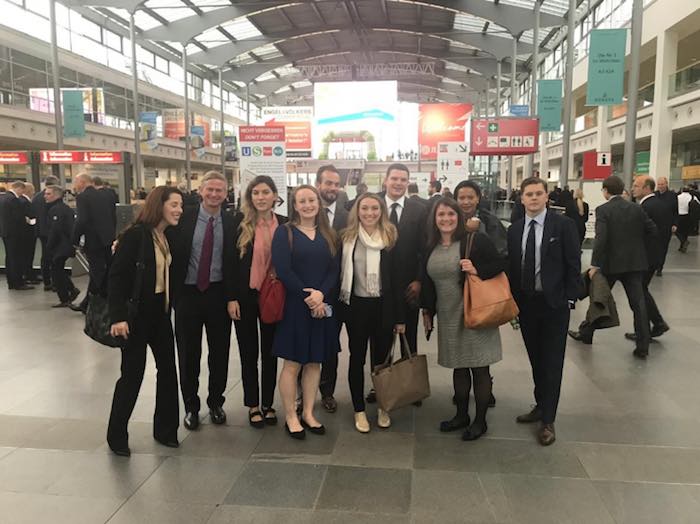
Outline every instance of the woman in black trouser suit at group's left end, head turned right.
<svg viewBox="0 0 700 524"><path fill-rule="evenodd" d="M136 405L146 368L146 345L156 361L156 409L153 438L178 447L179 425L175 343L170 323L170 247L165 229L182 215L182 194L174 187L151 191L135 223L122 234L108 281L113 337L123 337L121 376L114 387L107 443L128 457L129 418ZM132 300L136 298L136 300Z"/></svg>

